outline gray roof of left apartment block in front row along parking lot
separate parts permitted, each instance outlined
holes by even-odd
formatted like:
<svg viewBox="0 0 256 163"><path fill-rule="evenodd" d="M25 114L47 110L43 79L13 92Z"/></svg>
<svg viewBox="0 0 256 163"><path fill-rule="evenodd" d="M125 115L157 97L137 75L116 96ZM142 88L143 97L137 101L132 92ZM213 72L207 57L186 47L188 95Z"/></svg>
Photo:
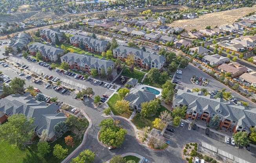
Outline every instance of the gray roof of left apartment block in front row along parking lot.
<svg viewBox="0 0 256 163"><path fill-rule="evenodd" d="M42 53L42 55L44 56L54 56L57 55L59 53L63 53L63 50L57 47L53 47L47 44L43 44L43 43L32 43L29 45L29 49L35 49L35 51L40 51Z"/></svg>

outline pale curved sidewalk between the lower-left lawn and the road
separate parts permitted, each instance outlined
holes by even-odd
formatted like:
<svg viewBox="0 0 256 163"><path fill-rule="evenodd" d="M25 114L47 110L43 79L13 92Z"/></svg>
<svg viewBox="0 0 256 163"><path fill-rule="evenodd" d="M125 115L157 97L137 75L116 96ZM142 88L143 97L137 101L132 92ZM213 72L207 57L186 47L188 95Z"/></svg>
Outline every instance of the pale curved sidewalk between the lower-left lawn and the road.
<svg viewBox="0 0 256 163"><path fill-rule="evenodd" d="M82 143L71 152L71 154L69 154L63 161L61 161L61 163L67 163L84 145L86 138L87 138L87 134L89 132L89 130L91 129L92 126L92 122L91 119L88 117L88 115L84 112L84 110L81 110L81 112L84 114L84 116L86 117L86 119L89 121L89 126L87 127L86 131L84 132L84 136L82 139Z"/></svg>

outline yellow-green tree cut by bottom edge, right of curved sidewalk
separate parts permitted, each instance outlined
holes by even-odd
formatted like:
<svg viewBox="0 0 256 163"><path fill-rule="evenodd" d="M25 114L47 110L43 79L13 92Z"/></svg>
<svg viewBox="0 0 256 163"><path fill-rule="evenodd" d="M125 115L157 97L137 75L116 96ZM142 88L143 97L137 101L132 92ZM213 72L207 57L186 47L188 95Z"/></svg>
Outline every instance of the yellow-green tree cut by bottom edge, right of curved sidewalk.
<svg viewBox="0 0 256 163"><path fill-rule="evenodd" d="M92 163L95 154L89 149L83 150L76 158L73 158L71 163Z"/></svg>

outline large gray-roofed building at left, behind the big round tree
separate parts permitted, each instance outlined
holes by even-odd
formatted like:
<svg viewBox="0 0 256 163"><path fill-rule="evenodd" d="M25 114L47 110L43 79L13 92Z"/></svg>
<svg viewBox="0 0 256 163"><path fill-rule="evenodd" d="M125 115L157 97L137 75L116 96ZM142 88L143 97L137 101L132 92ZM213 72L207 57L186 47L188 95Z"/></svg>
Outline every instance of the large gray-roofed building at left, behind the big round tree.
<svg viewBox="0 0 256 163"><path fill-rule="evenodd" d="M55 103L46 105L46 102L35 100L29 93L11 94L0 99L0 112L3 112L6 118L13 114L24 114L27 118L34 118L35 133L40 136L45 129L48 131L49 139L55 138L54 126L66 120L65 114L57 112L58 110L59 106Z"/></svg>

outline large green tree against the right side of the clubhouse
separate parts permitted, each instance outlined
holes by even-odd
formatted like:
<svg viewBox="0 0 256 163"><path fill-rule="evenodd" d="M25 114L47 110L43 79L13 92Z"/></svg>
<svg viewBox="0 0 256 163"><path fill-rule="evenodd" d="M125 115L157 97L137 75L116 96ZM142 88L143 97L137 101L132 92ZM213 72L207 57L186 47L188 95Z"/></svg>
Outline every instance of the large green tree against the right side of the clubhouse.
<svg viewBox="0 0 256 163"><path fill-rule="evenodd" d="M159 99L141 103L141 115L149 117L154 115L160 107Z"/></svg>

